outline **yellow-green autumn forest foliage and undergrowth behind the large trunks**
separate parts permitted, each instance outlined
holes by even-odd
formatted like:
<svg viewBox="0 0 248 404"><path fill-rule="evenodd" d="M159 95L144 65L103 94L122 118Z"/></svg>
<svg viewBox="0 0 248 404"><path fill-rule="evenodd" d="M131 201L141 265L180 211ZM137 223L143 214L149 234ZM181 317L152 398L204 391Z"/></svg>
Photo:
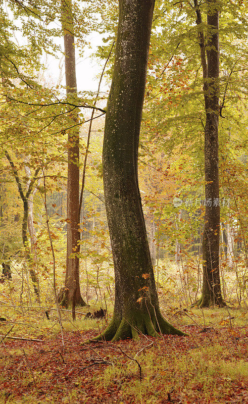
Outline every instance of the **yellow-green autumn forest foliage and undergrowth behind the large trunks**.
<svg viewBox="0 0 248 404"><path fill-rule="evenodd" d="M217 323L230 327L235 337L233 317L241 322L247 311L247 2L219 4L220 198L216 204L221 214L221 290L227 308L218 312ZM32 335L34 319L37 324L41 319L48 330L45 312L54 319L53 332L62 331L65 324L81 330L88 324L79 321L82 313L102 307L108 317L114 305L102 145L118 3L64 6L63 14L61 3L54 1L1 5L0 300L1 315L15 323L12 334L19 337ZM199 7L205 16L205 4L200 2ZM87 72L76 63L77 92L72 96L68 92L62 42L72 27L76 61L85 52L88 55L92 33L101 42L91 55L98 61L98 91L85 90L80 77ZM206 35L205 17L202 25L196 23L195 2L156 2L139 141L139 187L157 291L165 315L179 328L183 321L177 317L183 314L187 319L199 316L199 324L203 320L205 324L201 309L192 309L202 294L208 204L201 30ZM55 63L58 78L53 74ZM78 175L83 192L74 258L79 259L80 296L83 304L90 305L76 312L73 301L67 305L69 311L61 311L54 297L57 290L63 299L67 290L68 135L74 136L75 127L79 128ZM73 326L71 311L78 316ZM216 316L213 313L207 316Z"/></svg>

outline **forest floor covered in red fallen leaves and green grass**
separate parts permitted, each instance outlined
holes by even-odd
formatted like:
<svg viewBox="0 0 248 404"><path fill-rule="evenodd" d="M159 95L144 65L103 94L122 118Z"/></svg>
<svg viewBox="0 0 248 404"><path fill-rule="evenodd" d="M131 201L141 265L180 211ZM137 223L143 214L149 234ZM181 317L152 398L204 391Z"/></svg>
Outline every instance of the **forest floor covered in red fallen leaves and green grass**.
<svg viewBox="0 0 248 404"><path fill-rule="evenodd" d="M64 346L56 321L3 321L1 335L40 341L0 340L0 403L247 403L247 311L169 320L187 336L85 343L105 324L82 318L64 323Z"/></svg>

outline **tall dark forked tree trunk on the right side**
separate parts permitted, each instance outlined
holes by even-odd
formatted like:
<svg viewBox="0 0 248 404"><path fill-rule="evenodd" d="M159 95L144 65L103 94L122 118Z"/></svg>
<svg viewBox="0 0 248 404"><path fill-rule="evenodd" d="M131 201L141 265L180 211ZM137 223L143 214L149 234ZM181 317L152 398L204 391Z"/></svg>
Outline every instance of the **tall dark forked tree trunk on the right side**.
<svg viewBox="0 0 248 404"><path fill-rule="evenodd" d="M224 306L219 270L220 193L219 193L219 2L207 2L207 43L199 4L194 0L205 96L205 223L203 231L202 307Z"/></svg>

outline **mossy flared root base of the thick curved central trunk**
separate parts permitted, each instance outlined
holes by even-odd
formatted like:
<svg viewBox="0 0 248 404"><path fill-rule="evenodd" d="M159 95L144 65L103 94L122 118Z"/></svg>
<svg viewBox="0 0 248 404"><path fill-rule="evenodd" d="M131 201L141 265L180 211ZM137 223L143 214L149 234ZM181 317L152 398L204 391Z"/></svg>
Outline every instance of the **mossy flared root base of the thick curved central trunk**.
<svg viewBox="0 0 248 404"><path fill-rule="evenodd" d="M103 332L91 341L119 341L120 339L138 339L140 335L159 337L161 334L186 335L169 324L164 317L158 313L150 316L148 313L135 315L131 321L114 314L110 324Z"/></svg>

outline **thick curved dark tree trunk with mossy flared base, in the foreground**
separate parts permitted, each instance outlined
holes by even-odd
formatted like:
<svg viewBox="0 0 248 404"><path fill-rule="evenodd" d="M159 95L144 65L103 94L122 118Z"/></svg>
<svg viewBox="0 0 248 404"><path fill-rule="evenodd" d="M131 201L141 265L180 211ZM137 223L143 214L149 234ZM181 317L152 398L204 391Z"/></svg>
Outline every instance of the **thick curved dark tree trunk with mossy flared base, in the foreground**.
<svg viewBox="0 0 248 404"><path fill-rule="evenodd" d="M98 339L183 335L161 315L138 188L138 142L155 0L120 0L103 172L115 267L115 308Z"/></svg>

